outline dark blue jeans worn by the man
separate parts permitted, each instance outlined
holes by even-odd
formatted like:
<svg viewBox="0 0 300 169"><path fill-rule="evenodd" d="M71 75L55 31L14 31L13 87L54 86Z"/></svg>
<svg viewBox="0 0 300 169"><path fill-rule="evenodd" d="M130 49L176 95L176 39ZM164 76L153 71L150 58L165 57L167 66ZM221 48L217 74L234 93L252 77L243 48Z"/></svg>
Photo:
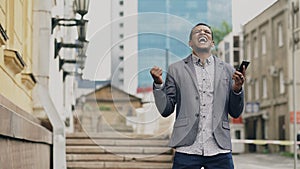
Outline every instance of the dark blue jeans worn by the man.
<svg viewBox="0 0 300 169"><path fill-rule="evenodd" d="M176 152L173 169L234 169L232 154L201 156Z"/></svg>

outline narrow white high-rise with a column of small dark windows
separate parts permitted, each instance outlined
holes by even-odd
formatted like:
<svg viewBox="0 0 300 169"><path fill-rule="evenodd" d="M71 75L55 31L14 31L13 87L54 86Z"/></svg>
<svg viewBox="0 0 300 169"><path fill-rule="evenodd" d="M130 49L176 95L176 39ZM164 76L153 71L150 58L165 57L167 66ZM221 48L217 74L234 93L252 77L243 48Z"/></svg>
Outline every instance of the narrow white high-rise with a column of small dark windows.
<svg viewBox="0 0 300 169"><path fill-rule="evenodd" d="M105 8L107 8L105 6ZM137 0L110 1L111 83L135 94L137 90Z"/></svg>

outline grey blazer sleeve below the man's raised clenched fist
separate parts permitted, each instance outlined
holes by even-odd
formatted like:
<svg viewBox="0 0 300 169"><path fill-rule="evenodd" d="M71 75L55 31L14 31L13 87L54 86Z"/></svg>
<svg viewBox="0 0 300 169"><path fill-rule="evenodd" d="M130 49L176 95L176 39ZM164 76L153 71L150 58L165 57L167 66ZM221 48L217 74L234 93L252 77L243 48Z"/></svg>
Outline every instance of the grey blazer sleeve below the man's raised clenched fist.
<svg viewBox="0 0 300 169"><path fill-rule="evenodd" d="M176 105L178 91L171 69L170 66L162 88L157 89L153 86L155 105L163 117L171 115Z"/></svg>

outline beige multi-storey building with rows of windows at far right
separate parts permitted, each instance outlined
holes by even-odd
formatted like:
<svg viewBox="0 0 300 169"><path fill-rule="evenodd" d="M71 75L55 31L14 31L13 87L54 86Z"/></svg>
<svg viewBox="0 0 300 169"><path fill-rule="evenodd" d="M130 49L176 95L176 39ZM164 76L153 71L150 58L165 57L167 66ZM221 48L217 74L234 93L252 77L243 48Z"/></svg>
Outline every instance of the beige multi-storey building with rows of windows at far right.
<svg viewBox="0 0 300 169"><path fill-rule="evenodd" d="M268 9L243 26L244 59L250 60L247 69L246 112L243 114L246 139L294 140L293 87L300 82L300 67L296 66L293 79L293 62L300 63L300 45L295 42L293 61L292 19L295 35L299 38L299 10L291 15L291 2L278 0ZM299 0L294 0L299 9ZM300 87L296 87L296 111L300 113ZM300 115L300 114L299 114ZM297 118L297 133L300 121ZM292 145L247 145L250 152L293 152Z"/></svg>

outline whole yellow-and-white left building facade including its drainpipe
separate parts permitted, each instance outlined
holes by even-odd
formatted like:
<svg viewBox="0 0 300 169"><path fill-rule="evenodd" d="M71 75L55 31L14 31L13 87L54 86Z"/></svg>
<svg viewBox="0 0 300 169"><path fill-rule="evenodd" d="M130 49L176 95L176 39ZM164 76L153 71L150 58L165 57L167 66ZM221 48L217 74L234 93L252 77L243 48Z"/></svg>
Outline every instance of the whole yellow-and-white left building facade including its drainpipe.
<svg viewBox="0 0 300 169"><path fill-rule="evenodd" d="M77 74L67 76L74 68L62 60L76 52L58 48L74 46L77 35L53 21L74 19L74 0L2 0L0 9L0 166L66 168Z"/></svg>

